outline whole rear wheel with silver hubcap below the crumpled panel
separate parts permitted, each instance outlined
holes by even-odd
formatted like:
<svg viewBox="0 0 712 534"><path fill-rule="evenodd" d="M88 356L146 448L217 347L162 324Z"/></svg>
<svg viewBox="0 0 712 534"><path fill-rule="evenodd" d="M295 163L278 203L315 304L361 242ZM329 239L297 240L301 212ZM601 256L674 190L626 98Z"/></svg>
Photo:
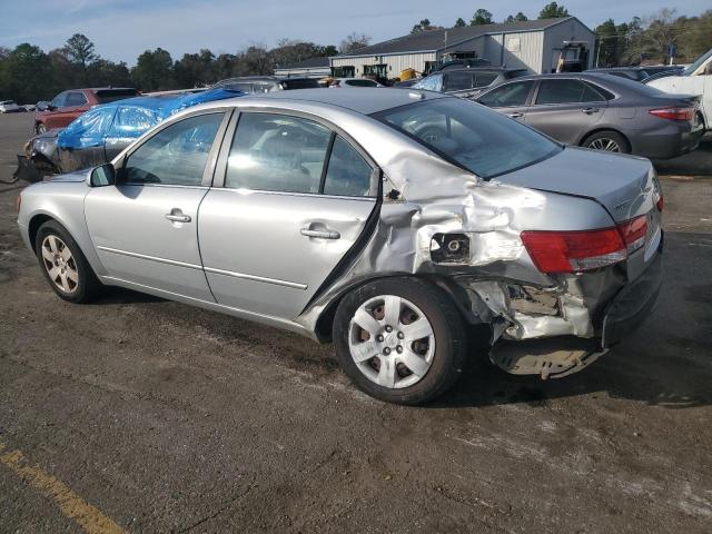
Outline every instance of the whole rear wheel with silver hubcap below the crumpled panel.
<svg viewBox="0 0 712 534"><path fill-rule="evenodd" d="M457 308L437 286L385 278L348 294L334 318L336 355L364 393L421 405L461 375L467 334Z"/></svg>

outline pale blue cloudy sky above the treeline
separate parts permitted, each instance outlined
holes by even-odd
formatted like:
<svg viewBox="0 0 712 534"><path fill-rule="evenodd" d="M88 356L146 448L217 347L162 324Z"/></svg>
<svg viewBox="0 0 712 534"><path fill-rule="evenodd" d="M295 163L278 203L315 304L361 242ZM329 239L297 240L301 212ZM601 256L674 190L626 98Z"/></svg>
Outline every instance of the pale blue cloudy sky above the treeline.
<svg viewBox="0 0 712 534"><path fill-rule="evenodd" d="M49 51L73 33L83 33L97 52L113 61L136 63L147 49L164 48L174 59L202 48L216 55L236 53L250 46L274 47L290 38L336 44L356 31L373 42L409 32L422 19L453 26L469 21L478 8L495 21L523 11L538 16L548 0L0 0L0 47L30 42ZM635 16L676 8L678 14L700 14L710 0L563 0L558 2L590 28L612 18L623 22Z"/></svg>

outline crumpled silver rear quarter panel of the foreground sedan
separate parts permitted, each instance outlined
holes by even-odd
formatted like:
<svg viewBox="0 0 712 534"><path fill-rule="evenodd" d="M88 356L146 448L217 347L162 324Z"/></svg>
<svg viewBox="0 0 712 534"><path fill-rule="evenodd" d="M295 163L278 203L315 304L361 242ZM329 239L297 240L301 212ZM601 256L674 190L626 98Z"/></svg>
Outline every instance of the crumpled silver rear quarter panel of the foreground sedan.
<svg viewBox="0 0 712 534"><path fill-rule="evenodd" d="M356 122L359 123L348 125L348 131L383 169L384 202L363 250L328 287L320 289L297 318L299 323L316 329L319 316L332 303L374 277L445 275L469 296L468 320L493 325L493 342L501 335L514 339L594 335L592 310L596 303L586 297L586 285L582 285L582 278L590 275L540 273L520 234L531 229L610 227L613 221L602 206L586 198L506 185L496 179L482 180L373 119ZM377 136L373 135L374 128L380 130ZM399 192L398 200L388 198L390 189ZM434 264L433 236L453 233L469 238L466 263ZM522 284L555 295L555 313L527 314L516 309L508 286Z"/></svg>

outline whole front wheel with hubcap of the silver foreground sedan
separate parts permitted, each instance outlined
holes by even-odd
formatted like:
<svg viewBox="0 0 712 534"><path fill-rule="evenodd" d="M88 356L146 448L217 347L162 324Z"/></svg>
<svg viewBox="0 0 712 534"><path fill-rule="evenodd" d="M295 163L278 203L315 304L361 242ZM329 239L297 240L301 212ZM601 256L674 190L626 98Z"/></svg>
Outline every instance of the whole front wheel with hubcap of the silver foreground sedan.
<svg viewBox="0 0 712 534"><path fill-rule="evenodd" d="M40 226L34 238L34 253L44 279L62 299L69 303L88 303L101 289L77 241L57 221Z"/></svg>

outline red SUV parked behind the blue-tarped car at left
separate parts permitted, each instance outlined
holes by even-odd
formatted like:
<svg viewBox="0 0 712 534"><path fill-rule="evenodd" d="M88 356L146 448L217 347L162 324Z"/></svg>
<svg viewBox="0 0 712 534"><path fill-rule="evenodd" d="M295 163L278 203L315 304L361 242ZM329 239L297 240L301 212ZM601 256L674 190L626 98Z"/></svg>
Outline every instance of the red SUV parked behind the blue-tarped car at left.
<svg viewBox="0 0 712 534"><path fill-rule="evenodd" d="M38 108L34 113L34 132L42 134L52 128L65 128L92 106L139 95L136 89L128 87L95 87L62 91L48 106Z"/></svg>

